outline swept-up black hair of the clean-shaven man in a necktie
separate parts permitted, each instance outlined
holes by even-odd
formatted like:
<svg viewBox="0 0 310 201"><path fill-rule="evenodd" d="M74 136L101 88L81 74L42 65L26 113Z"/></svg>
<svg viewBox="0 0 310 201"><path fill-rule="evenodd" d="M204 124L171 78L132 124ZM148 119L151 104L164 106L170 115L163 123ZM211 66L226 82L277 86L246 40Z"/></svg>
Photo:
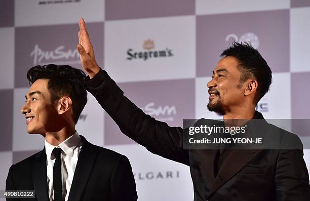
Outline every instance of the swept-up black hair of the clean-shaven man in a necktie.
<svg viewBox="0 0 310 201"><path fill-rule="evenodd" d="M48 64L34 66L27 72L27 79L32 85L37 79L48 79L51 101L68 96L72 100L74 123L78 123L80 114L87 103L87 91L84 87L86 74L68 65Z"/></svg>

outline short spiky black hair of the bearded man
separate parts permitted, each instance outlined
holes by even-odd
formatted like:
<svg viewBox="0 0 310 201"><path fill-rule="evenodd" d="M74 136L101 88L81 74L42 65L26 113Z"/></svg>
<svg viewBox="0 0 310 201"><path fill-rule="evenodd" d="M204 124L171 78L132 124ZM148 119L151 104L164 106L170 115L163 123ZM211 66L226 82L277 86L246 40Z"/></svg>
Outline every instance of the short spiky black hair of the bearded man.
<svg viewBox="0 0 310 201"><path fill-rule="evenodd" d="M222 57L232 56L239 61L240 84L247 79L254 78L258 83L255 96L256 104L269 91L272 84L272 71L260 53L247 42L233 42L224 50Z"/></svg>

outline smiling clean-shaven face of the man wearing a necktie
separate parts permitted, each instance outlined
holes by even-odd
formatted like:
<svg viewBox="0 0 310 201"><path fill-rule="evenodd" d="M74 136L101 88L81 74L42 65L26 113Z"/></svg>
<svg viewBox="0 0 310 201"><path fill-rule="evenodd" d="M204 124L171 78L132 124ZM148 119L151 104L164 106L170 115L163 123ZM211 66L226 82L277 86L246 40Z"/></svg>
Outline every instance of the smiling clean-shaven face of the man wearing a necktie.
<svg viewBox="0 0 310 201"><path fill-rule="evenodd" d="M37 79L25 96L26 102L21 108L21 113L25 114L28 133L45 135L55 124L57 108L51 102L47 86L48 79Z"/></svg>

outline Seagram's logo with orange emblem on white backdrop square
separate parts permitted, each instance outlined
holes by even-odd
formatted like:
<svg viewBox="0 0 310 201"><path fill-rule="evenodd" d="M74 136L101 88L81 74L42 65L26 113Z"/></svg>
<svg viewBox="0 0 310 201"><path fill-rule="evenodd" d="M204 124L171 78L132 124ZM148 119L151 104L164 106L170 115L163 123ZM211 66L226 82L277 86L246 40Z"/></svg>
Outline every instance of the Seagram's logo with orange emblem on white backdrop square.
<svg viewBox="0 0 310 201"><path fill-rule="evenodd" d="M174 56L172 50L169 48L155 50L154 41L151 39L147 39L146 41L144 41L142 47L145 51L135 51L134 49L129 48L127 50L126 59L127 60L142 59L143 61L146 61L148 59Z"/></svg>

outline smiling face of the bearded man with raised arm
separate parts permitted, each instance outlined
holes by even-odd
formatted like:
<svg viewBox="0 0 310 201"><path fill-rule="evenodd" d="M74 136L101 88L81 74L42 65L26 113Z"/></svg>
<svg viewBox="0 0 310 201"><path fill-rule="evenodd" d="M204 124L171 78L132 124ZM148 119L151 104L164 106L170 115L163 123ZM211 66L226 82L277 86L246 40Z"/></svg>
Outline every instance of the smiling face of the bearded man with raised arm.
<svg viewBox="0 0 310 201"><path fill-rule="evenodd" d="M235 57L224 57L217 63L208 88L210 111L225 114L231 107L242 105L244 89L240 86L240 71Z"/></svg>

